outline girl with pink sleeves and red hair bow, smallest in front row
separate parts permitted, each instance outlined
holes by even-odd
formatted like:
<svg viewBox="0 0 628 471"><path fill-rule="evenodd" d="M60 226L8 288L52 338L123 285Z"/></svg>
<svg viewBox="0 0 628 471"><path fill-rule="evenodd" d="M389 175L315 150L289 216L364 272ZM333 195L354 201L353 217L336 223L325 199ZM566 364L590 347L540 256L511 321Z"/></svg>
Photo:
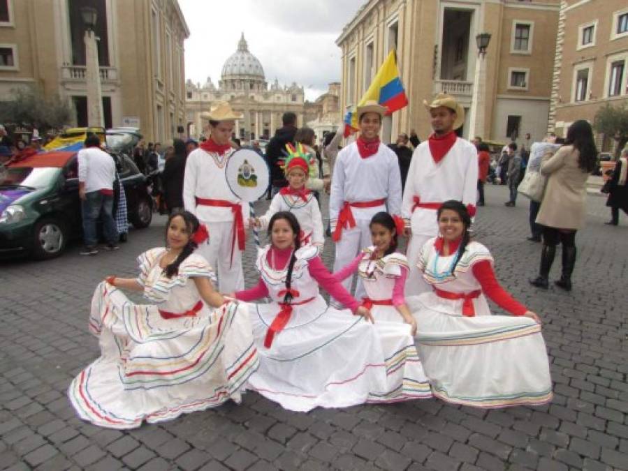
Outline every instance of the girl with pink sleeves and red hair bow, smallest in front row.
<svg viewBox="0 0 628 471"><path fill-rule="evenodd" d="M334 274L342 281L358 271L367 294L362 305L371 310L386 361L394 359L395 366L388 371L388 400L391 402L432 397L414 345L416 320L404 297L408 260L396 251L397 230L402 232L403 228L401 218L395 220L385 212L375 214L370 223L373 245Z"/></svg>

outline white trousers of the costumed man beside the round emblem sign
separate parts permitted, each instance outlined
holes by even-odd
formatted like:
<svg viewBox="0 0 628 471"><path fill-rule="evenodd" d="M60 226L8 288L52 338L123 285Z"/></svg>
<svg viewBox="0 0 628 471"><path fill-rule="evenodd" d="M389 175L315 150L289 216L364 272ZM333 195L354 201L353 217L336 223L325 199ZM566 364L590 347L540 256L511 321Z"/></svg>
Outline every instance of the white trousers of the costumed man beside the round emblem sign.
<svg viewBox="0 0 628 471"><path fill-rule="evenodd" d="M233 248L233 263L231 262L231 239L233 237L233 222L207 223L210 238L198 246L196 253L203 255L210 267L216 270L218 276L218 290L222 293L232 293L244 290L244 275L242 274L242 252L238 249L238 241Z"/></svg>

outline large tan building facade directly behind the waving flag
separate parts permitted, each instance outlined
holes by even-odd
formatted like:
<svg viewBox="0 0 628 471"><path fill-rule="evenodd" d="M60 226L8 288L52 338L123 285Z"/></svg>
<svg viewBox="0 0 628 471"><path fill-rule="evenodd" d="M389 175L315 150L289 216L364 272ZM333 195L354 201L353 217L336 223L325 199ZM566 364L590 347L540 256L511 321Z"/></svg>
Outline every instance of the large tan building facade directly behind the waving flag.
<svg viewBox="0 0 628 471"><path fill-rule="evenodd" d="M485 55L485 126L476 134L506 142L513 134L545 135L560 0L370 0L346 24L342 49L341 109L355 107L390 50L409 105L384 121L382 138L416 129L431 132L423 107L440 91L465 107L469 137L476 36L490 33ZM551 45L551 47L548 47Z"/></svg>

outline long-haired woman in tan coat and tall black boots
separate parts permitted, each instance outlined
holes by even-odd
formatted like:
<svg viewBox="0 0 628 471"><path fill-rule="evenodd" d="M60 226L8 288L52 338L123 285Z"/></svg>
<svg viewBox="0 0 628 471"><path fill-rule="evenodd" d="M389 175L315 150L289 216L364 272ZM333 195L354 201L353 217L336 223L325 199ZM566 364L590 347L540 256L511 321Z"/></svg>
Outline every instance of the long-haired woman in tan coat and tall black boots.
<svg viewBox="0 0 628 471"><path fill-rule="evenodd" d="M569 126L564 146L543 156L541 174L547 186L536 223L543 226L543 249L539 276L532 285L548 288L548 276L556 246L562 244L562 276L555 284L571 291L571 273L576 264L576 232L585 223L586 185L597 160L593 131L587 121Z"/></svg>

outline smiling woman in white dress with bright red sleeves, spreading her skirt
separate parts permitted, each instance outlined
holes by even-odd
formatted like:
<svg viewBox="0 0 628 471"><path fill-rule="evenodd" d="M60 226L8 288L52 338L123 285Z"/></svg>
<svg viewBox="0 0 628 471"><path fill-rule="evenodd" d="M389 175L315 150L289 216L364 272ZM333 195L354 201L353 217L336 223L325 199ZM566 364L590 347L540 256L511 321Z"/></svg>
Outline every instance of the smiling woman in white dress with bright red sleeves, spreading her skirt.
<svg viewBox="0 0 628 471"><path fill-rule="evenodd" d="M539 317L497 283L488 249L469 240L471 217L462 203L444 202L438 222L441 235L418 259L432 292L407 298L434 395L481 408L550 401ZM486 296L513 315L490 315Z"/></svg>

